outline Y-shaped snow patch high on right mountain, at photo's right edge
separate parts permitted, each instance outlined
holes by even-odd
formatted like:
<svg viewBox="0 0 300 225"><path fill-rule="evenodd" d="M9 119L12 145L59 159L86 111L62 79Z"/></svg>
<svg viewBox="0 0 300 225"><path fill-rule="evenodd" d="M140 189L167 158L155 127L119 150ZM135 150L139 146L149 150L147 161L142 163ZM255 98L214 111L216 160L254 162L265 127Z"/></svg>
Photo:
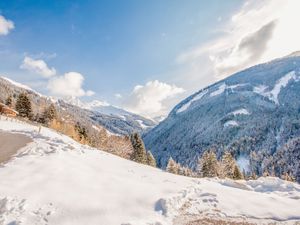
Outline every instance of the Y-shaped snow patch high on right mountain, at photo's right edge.
<svg viewBox="0 0 300 225"><path fill-rule="evenodd" d="M280 94L281 89L285 88L291 80L294 80L296 82L299 81L299 78L296 76L295 71L291 71L283 77L281 77L279 80L277 80L276 84L274 85L271 91L266 91L268 87L265 85L259 85L257 87L254 87L253 91L255 93L269 98L271 101L275 102L275 104L278 105L278 95Z"/></svg>

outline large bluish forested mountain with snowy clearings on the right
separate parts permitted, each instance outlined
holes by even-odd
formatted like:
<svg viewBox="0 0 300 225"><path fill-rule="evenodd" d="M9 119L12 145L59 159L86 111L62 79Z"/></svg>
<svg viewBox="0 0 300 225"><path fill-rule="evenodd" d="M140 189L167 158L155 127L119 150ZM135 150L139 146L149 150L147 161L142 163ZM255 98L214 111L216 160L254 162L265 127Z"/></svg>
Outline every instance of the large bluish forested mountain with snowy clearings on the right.
<svg viewBox="0 0 300 225"><path fill-rule="evenodd" d="M300 54L260 64L176 105L145 136L158 165L196 168L204 151L231 151L246 172L291 173L300 181Z"/></svg>

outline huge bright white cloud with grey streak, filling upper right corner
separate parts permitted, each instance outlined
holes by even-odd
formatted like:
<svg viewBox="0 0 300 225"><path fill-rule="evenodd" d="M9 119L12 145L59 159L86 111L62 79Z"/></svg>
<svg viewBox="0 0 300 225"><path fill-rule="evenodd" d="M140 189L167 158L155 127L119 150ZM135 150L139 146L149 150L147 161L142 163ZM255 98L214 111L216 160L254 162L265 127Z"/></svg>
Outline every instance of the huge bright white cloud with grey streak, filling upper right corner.
<svg viewBox="0 0 300 225"><path fill-rule="evenodd" d="M297 51L300 49L299 8L298 0L247 1L229 21L221 21L222 32L216 39L183 52L177 62L187 68L201 64L196 76L201 80L202 70L213 71L209 79L214 82ZM204 58L210 63L201 63Z"/></svg>

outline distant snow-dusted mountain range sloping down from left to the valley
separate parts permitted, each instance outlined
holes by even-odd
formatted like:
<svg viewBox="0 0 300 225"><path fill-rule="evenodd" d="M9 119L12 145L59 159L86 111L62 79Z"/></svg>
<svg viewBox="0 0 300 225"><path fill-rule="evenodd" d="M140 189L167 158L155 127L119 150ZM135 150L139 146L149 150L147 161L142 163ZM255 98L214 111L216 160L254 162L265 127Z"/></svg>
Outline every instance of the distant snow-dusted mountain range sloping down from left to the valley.
<svg viewBox="0 0 300 225"><path fill-rule="evenodd" d="M26 85L6 77L0 77L0 100L5 101L8 96L13 96L16 99L17 95L24 91L29 94L35 113L40 113L45 106L54 103L58 110L65 114L65 117L71 115L76 121L87 125L90 124L88 126L100 125L112 134L129 135L134 132L143 133L156 125L156 122L153 120L107 103L96 100L83 103L77 98L54 99L43 96Z"/></svg>

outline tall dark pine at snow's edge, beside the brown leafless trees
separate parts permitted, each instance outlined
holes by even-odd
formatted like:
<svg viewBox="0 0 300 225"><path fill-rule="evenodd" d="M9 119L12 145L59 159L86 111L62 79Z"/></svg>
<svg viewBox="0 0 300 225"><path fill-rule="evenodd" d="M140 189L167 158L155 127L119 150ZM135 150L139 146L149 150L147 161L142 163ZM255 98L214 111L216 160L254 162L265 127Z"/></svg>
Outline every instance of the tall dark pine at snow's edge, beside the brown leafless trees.
<svg viewBox="0 0 300 225"><path fill-rule="evenodd" d="M131 144L133 147L133 153L131 154L131 160L147 164L147 153L143 140L138 133L134 133L131 136Z"/></svg>

